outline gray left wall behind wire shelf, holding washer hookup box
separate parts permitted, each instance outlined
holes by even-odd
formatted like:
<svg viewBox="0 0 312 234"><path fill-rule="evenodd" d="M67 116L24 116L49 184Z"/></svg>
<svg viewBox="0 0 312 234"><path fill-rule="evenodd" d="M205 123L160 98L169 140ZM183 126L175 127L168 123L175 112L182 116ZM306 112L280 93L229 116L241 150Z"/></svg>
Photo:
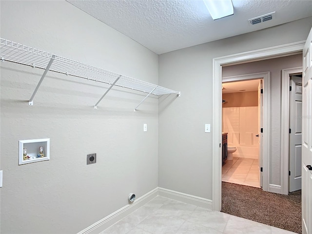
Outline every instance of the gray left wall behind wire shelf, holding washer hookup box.
<svg viewBox="0 0 312 234"><path fill-rule="evenodd" d="M1 1L1 37L158 82L158 56L66 1ZM77 233L158 185L158 100L1 62L1 233ZM174 87L174 86L173 86ZM143 133L143 123L148 132ZM50 138L49 161L18 165L19 140ZM86 154L97 163L86 165Z"/></svg>

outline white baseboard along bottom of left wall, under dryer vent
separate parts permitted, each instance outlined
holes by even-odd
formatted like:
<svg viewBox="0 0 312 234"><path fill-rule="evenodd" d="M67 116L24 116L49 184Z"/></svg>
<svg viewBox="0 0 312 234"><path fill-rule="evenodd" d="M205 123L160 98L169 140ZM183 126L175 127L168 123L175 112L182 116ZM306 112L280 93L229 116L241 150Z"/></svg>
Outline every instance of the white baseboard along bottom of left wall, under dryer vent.
<svg viewBox="0 0 312 234"><path fill-rule="evenodd" d="M109 228L113 224L117 223L119 220L123 219L127 215L130 215L132 212L134 212L135 210L143 206L145 203L152 200L157 195L158 188L155 188L152 191L148 192L147 194L138 197L133 204L128 204L120 208L116 212L107 215L98 222L80 231L78 234L98 234L104 231L105 229Z"/></svg>

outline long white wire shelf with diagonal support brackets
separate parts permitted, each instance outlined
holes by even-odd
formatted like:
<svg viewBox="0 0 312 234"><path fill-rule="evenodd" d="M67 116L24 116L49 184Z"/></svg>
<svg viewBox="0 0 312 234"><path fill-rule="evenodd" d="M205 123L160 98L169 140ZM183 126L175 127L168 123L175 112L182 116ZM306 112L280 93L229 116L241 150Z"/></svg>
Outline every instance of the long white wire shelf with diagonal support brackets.
<svg viewBox="0 0 312 234"><path fill-rule="evenodd" d="M115 72L110 72L102 68L78 62L73 59L67 59L65 57L58 56L50 52L42 51L27 45L23 45L2 38L0 38L0 60L1 62L11 61L27 66L44 69L39 83L35 88L33 95L29 99L30 106L33 105L33 99L48 71L109 84L110 87L95 104L95 109L97 109L98 103L105 97L105 95L111 90L114 85L148 94L137 105L137 107L150 95L161 96L165 94L176 94L180 97L180 92L172 89L168 89L136 78L120 75ZM135 108L135 111L137 110L137 107Z"/></svg>

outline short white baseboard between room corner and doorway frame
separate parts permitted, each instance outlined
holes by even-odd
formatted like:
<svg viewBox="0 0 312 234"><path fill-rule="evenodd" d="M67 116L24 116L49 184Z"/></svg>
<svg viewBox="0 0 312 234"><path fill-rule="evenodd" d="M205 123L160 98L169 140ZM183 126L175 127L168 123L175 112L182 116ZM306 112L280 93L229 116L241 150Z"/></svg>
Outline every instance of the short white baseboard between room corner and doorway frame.
<svg viewBox="0 0 312 234"><path fill-rule="evenodd" d="M184 194L180 192L176 192L170 189L164 189L158 187L158 195L168 197L171 199L175 199L178 201L182 201L185 203L189 203L195 206L203 207L212 210L213 208L213 201L210 199L206 199L199 196Z"/></svg>

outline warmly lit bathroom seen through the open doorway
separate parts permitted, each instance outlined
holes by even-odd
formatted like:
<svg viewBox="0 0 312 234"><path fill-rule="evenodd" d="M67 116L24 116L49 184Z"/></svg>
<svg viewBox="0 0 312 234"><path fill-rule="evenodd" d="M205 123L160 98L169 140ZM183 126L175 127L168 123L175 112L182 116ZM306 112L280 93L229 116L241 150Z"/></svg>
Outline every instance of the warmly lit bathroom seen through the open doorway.
<svg viewBox="0 0 312 234"><path fill-rule="evenodd" d="M263 80L228 79L222 83L222 133L228 145L222 181L260 188Z"/></svg>

